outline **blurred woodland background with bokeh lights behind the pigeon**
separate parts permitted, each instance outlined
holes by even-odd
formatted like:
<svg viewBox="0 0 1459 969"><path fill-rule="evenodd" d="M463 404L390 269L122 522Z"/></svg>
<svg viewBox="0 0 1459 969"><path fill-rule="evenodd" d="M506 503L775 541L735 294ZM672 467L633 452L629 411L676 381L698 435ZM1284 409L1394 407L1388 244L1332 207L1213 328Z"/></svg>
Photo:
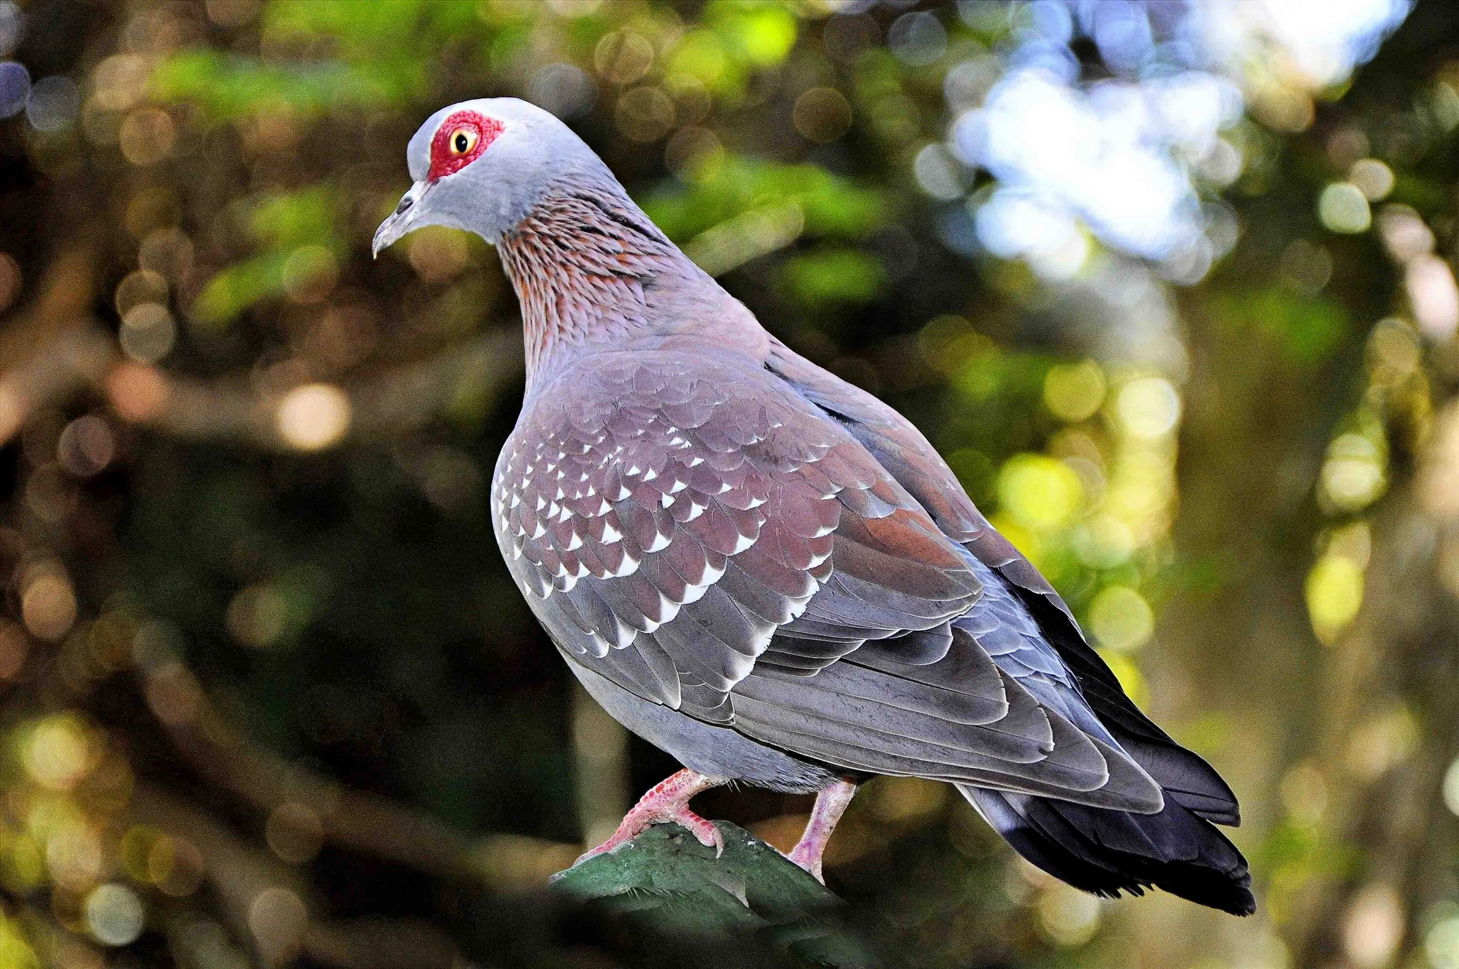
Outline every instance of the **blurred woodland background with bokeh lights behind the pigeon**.
<svg viewBox="0 0 1459 969"><path fill-rule="evenodd" d="M827 860L875 949L1459 969L1446 0L0 0L0 966L684 956L547 903L676 765L499 562L498 258L369 258L484 95L912 417L1240 795L1245 921L877 779Z"/></svg>

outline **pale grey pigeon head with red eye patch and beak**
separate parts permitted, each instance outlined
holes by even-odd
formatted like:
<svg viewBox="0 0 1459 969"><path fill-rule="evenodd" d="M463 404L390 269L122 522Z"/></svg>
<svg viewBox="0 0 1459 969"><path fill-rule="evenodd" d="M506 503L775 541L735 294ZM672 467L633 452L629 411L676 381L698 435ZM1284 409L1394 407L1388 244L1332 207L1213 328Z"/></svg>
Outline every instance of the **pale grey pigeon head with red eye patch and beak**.
<svg viewBox="0 0 1459 969"><path fill-rule="evenodd" d="M427 225L465 229L495 244L553 184L607 174L566 124L516 98L436 111L410 139L406 158L414 184L375 231L376 255Z"/></svg>

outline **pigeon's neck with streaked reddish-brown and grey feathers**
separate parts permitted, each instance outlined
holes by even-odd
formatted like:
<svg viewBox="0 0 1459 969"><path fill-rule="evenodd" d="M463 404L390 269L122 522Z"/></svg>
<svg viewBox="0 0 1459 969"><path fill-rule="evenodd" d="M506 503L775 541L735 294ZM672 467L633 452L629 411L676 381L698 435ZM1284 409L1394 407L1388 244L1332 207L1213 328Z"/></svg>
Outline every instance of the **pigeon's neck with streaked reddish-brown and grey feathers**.
<svg viewBox="0 0 1459 969"><path fill-rule="evenodd" d="M522 306L528 394L587 353L722 321L724 304L748 315L607 177L549 190L498 251Z"/></svg>

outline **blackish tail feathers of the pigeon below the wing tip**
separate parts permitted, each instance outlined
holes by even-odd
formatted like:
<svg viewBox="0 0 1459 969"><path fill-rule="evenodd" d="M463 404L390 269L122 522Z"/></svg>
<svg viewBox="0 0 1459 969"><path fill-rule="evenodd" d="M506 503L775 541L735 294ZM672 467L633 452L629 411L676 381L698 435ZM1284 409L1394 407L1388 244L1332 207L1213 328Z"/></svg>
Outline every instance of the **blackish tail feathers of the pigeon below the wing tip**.
<svg viewBox="0 0 1459 969"><path fill-rule="evenodd" d="M1020 855L1096 895L1160 887L1233 915L1256 911L1246 858L1176 798L1131 814L1029 794L957 785Z"/></svg>

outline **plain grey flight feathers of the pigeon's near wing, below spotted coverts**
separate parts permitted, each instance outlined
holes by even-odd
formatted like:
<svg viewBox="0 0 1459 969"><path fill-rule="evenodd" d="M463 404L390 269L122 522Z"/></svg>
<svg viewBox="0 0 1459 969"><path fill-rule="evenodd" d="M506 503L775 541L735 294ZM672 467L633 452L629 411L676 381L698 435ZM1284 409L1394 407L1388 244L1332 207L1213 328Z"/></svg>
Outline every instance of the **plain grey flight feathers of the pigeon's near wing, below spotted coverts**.
<svg viewBox="0 0 1459 969"><path fill-rule="evenodd" d="M1017 597L985 565L972 571L983 594L940 654L891 639L811 677L756 668L734 689L737 728L875 773L1160 810L1158 785L1088 709Z"/></svg>

